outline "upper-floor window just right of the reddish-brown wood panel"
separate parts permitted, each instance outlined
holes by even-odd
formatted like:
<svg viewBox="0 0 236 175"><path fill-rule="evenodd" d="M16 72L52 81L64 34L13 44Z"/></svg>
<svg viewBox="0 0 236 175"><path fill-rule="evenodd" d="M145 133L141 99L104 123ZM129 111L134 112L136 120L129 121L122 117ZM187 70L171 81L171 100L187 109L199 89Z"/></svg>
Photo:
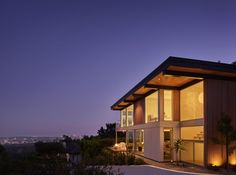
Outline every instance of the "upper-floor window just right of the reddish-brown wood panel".
<svg viewBox="0 0 236 175"><path fill-rule="evenodd" d="M154 92L145 98L145 121L155 122L158 116L158 92Z"/></svg>

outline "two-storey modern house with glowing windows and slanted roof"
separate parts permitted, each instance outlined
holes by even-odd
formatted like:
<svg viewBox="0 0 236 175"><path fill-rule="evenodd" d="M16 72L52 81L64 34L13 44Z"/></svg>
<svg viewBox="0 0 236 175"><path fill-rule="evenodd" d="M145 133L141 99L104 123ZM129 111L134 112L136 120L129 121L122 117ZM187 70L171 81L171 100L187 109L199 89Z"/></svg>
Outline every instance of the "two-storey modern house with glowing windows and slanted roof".
<svg viewBox="0 0 236 175"><path fill-rule="evenodd" d="M236 127L236 65L169 57L111 106L127 147L156 161L175 159L171 145L184 140L181 160L221 165L225 147L213 142L224 112ZM230 154L236 164L236 151Z"/></svg>

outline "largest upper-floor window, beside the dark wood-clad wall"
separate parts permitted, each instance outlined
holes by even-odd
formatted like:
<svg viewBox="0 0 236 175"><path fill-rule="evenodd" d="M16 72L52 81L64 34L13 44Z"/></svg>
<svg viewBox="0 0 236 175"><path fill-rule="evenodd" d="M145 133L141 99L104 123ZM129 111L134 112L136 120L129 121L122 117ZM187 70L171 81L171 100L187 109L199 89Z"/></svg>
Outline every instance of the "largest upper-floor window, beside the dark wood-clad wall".
<svg viewBox="0 0 236 175"><path fill-rule="evenodd" d="M203 82L180 91L180 117L181 121L203 118Z"/></svg>

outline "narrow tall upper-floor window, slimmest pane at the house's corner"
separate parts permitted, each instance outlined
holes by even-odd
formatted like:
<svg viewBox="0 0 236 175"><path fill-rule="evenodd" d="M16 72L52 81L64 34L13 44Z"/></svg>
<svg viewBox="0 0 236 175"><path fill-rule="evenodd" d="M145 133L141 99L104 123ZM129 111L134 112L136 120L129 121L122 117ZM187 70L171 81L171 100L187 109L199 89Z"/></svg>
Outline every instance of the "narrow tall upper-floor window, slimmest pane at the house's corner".
<svg viewBox="0 0 236 175"><path fill-rule="evenodd" d="M164 120L172 120L172 91L164 90Z"/></svg>

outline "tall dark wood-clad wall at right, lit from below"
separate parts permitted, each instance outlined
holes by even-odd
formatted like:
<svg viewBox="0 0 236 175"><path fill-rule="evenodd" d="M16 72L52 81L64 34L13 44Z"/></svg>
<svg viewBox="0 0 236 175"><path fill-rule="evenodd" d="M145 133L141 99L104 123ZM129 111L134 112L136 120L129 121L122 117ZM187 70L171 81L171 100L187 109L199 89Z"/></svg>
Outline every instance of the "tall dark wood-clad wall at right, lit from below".
<svg viewBox="0 0 236 175"><path fill-rule="evenodd" d="M221 112L228 114L232 119L232 125L236 127L236 82L204 80L204 104L205 165L220 165L225 160L224 147L214 145L212 138L217 135L216 126Z"/></svg>

